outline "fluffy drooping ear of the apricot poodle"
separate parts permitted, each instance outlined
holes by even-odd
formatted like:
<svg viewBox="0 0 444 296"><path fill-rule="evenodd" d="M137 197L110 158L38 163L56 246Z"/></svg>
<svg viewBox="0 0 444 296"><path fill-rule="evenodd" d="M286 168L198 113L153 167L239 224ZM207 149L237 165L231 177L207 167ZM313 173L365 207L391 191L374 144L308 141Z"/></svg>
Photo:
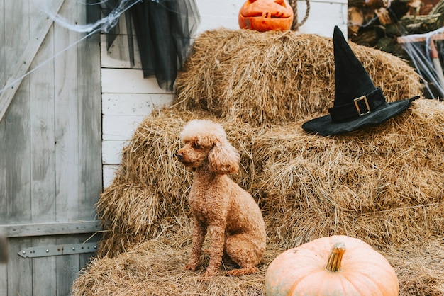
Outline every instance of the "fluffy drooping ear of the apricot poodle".
<svg viewBox="0 0 444 296"><path fill-rule="evenodd" d="M239 169L239 153L230 143L216 142L209 156L209 169L215 173L235 173Z"/></svg>

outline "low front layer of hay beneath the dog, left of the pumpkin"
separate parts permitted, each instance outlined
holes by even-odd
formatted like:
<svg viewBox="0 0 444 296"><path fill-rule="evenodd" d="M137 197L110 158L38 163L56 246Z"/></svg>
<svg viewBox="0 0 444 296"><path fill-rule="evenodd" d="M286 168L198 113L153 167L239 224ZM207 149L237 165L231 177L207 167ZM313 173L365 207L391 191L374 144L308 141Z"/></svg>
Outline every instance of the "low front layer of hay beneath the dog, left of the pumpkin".
<svg viewBox="0 0 444 296"><path fill-rule="evenodd" d="M146 241L114 258L94 259L72 285L72 296L86 295L265 295L265 265L259 273L241 278L216 275L199 278L184 271L188 252L172 244ZM203 256L205 265L209 257ZM272 258L267 258L267 261ZM233 266L224 266L230 270Z"/></svg>

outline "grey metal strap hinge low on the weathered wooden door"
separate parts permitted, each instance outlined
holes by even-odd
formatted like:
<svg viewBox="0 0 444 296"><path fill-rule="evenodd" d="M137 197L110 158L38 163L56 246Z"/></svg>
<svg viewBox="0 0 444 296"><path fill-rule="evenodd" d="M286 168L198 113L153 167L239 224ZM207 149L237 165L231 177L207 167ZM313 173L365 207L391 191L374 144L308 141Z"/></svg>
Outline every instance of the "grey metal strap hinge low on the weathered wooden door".
<svg viewBox="0 0 444 296"><path fill-rule="evenodd" d="M35 246L19 251L17 254L23 258L60 256L72 254L94 253L97 249L96 243L85 244L63 244L59 246Z"/></svg>

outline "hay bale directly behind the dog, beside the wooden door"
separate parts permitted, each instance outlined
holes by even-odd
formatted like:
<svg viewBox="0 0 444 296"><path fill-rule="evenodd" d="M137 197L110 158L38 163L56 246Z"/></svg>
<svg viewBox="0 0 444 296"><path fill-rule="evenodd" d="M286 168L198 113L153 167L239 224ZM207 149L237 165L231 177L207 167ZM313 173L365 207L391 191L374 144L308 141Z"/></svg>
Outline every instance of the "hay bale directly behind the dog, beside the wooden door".
<svg viewBox="0 0 444 296"><path fill-rule="evenodd" d="M152 113L135 130L123 148L122 163L111 186L96 204L104 229L98 254L115 256L139 241L155 239L173 231L177 217L188 216L187 195L192 173L179 164L176 152L181 147L179 132L187 121L209 118L209 113L163 109ZM235 181L252 188L255 164L252 144L255 130L248 125L238 128L237 122L222 123L228 139L243 155Z"/></svg>

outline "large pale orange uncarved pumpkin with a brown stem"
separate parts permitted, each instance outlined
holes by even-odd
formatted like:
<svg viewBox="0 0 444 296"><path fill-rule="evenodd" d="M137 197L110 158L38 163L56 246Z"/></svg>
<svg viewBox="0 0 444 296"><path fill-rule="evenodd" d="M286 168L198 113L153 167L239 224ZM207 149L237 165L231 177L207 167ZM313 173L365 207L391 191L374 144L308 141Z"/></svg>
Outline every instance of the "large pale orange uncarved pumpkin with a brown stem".
<svg viewBox="0 0 444 296"><path fill-rule="evenodd" d="M265 293L270 296L398 292L398 278L387 259L364 241L347 236L322 237L284 251L265 273Z"/></svg>

